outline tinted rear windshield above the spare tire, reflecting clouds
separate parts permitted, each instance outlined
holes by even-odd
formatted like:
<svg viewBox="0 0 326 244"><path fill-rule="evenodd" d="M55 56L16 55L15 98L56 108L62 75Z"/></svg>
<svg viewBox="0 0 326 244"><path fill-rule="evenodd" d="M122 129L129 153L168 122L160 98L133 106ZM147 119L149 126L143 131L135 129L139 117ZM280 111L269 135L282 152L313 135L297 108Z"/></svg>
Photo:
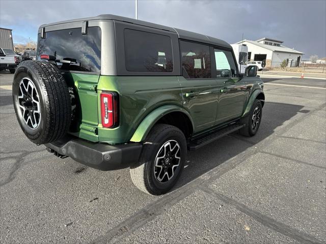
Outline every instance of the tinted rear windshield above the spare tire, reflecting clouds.
<svg viewBox="0 0 326 244"><path fill-rule="evenodd" d="M47 32L45 39L39 35L37 59L41 54L55 56L61 70L100 73L101 29L89 27L87 35L82 28Z"/></svg>

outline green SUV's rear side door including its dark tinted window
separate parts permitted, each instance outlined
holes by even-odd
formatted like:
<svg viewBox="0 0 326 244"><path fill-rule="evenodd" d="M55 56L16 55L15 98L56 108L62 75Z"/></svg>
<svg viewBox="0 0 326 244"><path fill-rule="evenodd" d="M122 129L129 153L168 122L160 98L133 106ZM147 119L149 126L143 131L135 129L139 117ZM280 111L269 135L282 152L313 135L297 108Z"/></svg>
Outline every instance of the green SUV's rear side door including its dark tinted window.
<svg viewBox="0 0 326 244"><path fill-rule="evenodd" d="M179 82L183 106L191 114L195 130L212 127L218 108L218 85L211 73L211 55L208 45L180 41L182 74Z"/></svg>

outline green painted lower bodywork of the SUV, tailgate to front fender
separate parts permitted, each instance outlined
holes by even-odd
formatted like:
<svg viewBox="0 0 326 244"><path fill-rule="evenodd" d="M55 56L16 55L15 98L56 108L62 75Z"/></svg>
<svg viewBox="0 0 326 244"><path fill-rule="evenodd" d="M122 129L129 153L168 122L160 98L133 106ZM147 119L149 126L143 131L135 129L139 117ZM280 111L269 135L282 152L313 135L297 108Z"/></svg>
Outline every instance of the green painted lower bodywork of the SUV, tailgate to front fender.
<svg viewBox="0 0 326 244"><path fill-rule="evenodd" d="M64 74L75 87L77 123L70 134L110 144L142 142L159 118L186 114L198 135L244 116L262 93L260 78L185 79L182 76L100 76ZM119 95L119 126L103 128L100 94Z"/></svg>

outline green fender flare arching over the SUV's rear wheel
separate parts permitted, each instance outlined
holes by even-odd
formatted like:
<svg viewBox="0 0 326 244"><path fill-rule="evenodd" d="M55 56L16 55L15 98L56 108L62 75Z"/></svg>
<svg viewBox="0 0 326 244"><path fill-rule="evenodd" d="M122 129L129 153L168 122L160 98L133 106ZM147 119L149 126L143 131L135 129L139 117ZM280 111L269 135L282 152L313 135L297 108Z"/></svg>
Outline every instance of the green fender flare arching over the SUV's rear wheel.
<svg viewBox="0 0 326 244"><path fill-rule="evenodd" d="M150 129L155 125L155 123L164 115L171 112L182 112L192 121L190 114L185 111L182 107L177 105L165 105L155 109L153 112L148 114L146 118L143 119L142 123L139 125L137 130L134 132L130 141L141 142L145 140Z"/></svg>

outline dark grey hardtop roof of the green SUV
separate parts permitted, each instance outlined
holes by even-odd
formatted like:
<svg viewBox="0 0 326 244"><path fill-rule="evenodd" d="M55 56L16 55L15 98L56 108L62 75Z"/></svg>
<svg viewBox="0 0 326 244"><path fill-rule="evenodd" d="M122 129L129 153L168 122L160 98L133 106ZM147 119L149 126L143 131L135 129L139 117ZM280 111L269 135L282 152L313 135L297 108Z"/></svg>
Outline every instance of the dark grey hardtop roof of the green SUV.
<svg viewBox="0 0 326 244"><path fill-rule="evenodd" d="M123 22L143 25L143 26L147 26L147 27L152 27L152 28L156 28L156 29L163 29L168 32L177 33L180 39L187 39L187 40L192 40L192 41L197 41L197 42L208 43L208 44L215 45L215 46L231 48L230 44L228 44L227 42L225 42L223 40L217 39L217 38L205 36L205 35L198 34L195 32L184 31L183 29L177 29L177 28L173 28L173 27L169 27L169 26L165 26L165 25L155 24L155 23L151 23L151 22L147 22L147 21L143 21L143 20L137 20L137 19L122 17L122 16L118 16L118 15L113 15L113 14L102 14L102 15L98 15L95 17L71 19L71 20L60 21L60 22L56 22L56 23L43 24L40 26L40 28L50 26L50 25L56 25L56 24L79 22L79 21L86 21L86 20L100 20L100 19L117 20L117 21L123 21ZM46 28L45 28L45 31L46 31Z"/></svg>

